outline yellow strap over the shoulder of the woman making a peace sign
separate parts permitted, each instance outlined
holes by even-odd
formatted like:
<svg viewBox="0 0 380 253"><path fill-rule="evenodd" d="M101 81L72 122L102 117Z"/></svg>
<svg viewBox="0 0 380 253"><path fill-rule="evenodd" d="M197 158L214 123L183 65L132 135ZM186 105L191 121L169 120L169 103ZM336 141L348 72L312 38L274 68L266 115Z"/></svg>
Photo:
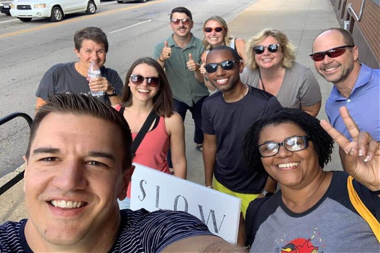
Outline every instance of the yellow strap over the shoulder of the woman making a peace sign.
<svg viewBox="0 0 380 253"><path fill-rule="evenodd" d="M364 205L358 196L358 193L355 191L354 185L352 184L352 180L352 176L349 176L347 179L347 190L349 193L350 201L359 215L368 223L377 241L380 243L380 223L376 220L372 213L369 212L368 208Z"/></svg>

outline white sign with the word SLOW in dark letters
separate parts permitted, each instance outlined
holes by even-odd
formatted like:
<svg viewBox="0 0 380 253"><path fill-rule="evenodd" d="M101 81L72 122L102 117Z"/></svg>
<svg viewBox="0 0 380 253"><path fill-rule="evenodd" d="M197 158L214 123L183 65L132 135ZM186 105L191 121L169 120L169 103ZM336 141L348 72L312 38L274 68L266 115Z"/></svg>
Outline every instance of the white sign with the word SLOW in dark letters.
<svg viewBox="0 0 380 253"><path fill-rule="evenodd" d="M236 243L241 199L133 163L131 209L184 211L196 216L209 230Z"/></svg>

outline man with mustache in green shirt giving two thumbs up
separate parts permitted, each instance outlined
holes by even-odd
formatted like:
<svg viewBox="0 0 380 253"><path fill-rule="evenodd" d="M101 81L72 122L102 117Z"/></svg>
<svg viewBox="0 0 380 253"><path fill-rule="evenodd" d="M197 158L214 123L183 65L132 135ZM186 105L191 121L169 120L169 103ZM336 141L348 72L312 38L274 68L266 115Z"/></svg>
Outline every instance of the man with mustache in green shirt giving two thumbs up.
<svg viewBox="0 0 380 253"><path fill-rule="evenodd" d="M191 32L193 28L192 13L177 7L171 11L170 26L173 34L155 46L154 58L165 68L173 92L173 105L182 119L190 110L195 123L194 142L197 149L202 149L202 104L209 92L203 83L199 71L201 55L205 48L202 40ZM170 163L169 163L170 165Z"/></svg>

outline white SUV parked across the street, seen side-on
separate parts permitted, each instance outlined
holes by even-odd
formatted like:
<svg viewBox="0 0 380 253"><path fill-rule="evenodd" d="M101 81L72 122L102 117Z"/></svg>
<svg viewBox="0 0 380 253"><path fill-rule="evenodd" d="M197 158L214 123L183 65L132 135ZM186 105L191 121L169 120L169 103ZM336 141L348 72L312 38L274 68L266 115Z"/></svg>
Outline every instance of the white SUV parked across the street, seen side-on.
<svg viewBox="0 0 380 253"><path fill-rule="evenodd" d="M66 14L85 11L94 14L100 0L14 0L11 5L11 15L22 22L32 18L50 18L59 22Z"/></svg>

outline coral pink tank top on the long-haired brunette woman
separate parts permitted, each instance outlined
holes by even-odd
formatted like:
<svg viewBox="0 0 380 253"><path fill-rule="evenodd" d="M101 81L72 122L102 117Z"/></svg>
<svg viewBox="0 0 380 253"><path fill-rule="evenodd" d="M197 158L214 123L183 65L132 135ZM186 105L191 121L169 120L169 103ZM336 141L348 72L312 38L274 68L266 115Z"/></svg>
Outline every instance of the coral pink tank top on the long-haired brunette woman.
<svg viewBox="0 0 380 253"><path fill-rule="evenodd" d="M136 138L136 135L137 133L132 133L132 140ZM170 139L165 128L165 118L160 117L156 128L146 133L144 139L142 139L132 162L137 162L160 172L170 174L169 165L166 160L169 143ZM128 185L127 197L131 197L131 184Z"/></svg>

